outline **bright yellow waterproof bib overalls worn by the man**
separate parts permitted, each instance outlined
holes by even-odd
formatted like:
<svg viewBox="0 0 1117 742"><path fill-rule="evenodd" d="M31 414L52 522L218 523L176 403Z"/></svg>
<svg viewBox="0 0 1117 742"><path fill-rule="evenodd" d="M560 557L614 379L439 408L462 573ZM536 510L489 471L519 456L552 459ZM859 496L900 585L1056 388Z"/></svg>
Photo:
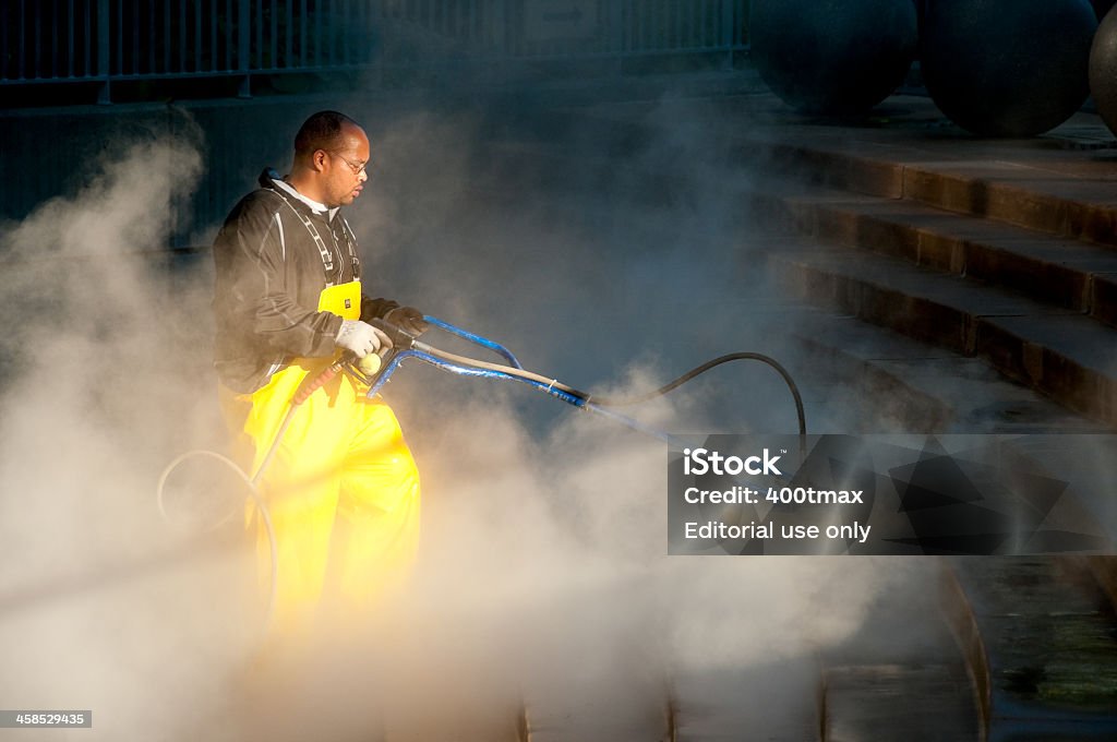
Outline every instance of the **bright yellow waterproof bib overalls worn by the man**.
<svg viewBox="0 0 1117 742"><path fill-rule="evenodd" d="M357 280L327 287L318 311L360 318ZM290 400L308 374L334 359L295 359L250 394L221 388L221 408L241 465L255 474ZM367 399L347 374L299 406L259 483L277 541L271 635L309 636L324 605L360 622L405 575L419 538L419 473L391 408ZM256 529L259 581L270 590L267 532Z"/></svg>

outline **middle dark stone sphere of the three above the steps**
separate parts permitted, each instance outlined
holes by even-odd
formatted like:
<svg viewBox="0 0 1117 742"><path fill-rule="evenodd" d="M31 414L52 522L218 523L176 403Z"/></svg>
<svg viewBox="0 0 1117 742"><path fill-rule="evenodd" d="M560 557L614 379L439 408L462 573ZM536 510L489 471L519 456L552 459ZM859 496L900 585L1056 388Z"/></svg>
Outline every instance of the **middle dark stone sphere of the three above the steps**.
<svg viewBox="0 0 1117 742"><path fill-rule="evenodd" d="M1088 0L927 0L923 79L974 134L1042 134L1086 102L1097 25Z"/></svg>

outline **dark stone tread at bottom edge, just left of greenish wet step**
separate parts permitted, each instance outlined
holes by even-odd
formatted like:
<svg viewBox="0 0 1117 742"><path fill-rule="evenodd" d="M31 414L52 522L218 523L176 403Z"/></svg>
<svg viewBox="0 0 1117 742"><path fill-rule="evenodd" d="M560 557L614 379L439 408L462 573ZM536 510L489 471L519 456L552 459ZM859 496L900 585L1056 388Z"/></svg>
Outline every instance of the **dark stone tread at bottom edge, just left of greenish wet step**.
<svg viewBox="0 0 1117 742"><path fill-rule="evenodd" d="M957 669L911 663L829 668L823 741L976 742L973 691Z"/></svg>

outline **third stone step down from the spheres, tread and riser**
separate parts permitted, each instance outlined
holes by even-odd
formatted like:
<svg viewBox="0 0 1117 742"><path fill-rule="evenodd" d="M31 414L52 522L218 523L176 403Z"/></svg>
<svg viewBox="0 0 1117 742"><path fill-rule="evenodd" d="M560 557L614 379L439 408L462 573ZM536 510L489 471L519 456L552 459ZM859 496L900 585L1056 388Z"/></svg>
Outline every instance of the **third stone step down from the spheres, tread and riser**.
<svg viewBox="0 0 1117 742"><path fill-rule="evenodd" d="M789 241L771 255L786 291L977 356L1060 405L1117 424L1117 335L1066 310L863 250Z"/></svg>

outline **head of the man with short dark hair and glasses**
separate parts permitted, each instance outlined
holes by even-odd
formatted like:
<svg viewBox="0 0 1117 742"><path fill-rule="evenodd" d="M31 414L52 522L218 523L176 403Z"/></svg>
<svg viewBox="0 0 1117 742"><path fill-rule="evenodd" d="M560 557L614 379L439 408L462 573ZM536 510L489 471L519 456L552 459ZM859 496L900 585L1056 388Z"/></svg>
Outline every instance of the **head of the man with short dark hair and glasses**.
<svg viewBox="0 0 1117 742"><path fill-rule="evenodd" d="M355 121L336 111L319 111L295 135L290 183L330 208L346 206L369 180L369 137Z"/></svg>

